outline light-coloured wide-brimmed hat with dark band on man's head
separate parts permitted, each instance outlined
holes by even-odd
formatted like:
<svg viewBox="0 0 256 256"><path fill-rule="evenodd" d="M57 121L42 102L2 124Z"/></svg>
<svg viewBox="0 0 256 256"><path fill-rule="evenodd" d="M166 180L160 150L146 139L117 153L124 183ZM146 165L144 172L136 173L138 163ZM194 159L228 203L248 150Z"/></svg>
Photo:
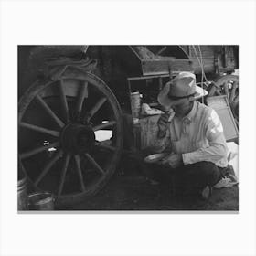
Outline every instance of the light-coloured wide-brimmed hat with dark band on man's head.
<svg viewBox="0 0 256 256"><path fill-rule="evenodd" d="M166 108L171 107L187 98L197 100L208 95L201 87L196 85L196 76L190 72L180 72L173 80L167 82L158 94L158 102Z"/></svg>

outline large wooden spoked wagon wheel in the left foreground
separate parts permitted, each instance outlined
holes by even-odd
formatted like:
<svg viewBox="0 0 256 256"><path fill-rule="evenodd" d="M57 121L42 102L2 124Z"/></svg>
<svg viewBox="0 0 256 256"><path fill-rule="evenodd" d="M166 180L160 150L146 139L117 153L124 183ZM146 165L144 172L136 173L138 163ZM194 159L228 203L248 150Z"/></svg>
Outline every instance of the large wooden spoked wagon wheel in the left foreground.
<svg viewBox="0 0 256 256"><path fill-rule="evenodd" d="M18 108L19 163L37 190L62 205L106 184L121 156L123 125L118 101L102 80L68 69L59 80L37 81Z"/></svg>

